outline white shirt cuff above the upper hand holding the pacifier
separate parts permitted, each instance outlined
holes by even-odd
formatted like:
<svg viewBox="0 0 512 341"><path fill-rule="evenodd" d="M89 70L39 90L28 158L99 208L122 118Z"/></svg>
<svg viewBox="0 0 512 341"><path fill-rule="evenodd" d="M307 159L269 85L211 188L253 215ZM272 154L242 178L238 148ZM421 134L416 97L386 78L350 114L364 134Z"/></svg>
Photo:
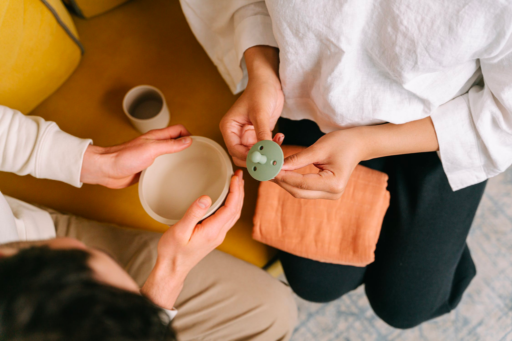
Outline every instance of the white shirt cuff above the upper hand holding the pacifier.
<svg viewBox="0 0 512 341"><path fill-rule="evenodd" d="M272 31L272 20L267 15L249 16L234 29L234 49L240 64L245 50L258 45L278 47Z"/></svg>

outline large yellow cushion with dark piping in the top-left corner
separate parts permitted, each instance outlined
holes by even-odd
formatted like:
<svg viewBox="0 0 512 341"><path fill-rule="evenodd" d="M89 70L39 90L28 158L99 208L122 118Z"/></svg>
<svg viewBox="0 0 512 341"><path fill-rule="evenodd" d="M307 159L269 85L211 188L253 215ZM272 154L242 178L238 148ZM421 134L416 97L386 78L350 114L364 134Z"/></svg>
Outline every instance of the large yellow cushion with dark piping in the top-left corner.
<svg viewBox="0 0 512 341"><path fill-rule="evenodd" d="M80 61L77 37L59 0L0 1L0 103L27 113L50 96Z"/></svg>

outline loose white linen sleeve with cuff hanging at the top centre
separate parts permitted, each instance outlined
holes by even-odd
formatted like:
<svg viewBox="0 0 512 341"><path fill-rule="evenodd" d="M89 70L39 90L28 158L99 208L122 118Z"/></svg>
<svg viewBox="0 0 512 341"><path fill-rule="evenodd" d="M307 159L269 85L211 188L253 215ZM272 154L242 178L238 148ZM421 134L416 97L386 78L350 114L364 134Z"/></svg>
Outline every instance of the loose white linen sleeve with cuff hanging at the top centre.
<svg viewBox="0 0 512 341"><path fill-rule="evenodd" d="M244 52L278 47L264 1L180 0L190 29L214 62L233 94L247 85Z"/></svg>

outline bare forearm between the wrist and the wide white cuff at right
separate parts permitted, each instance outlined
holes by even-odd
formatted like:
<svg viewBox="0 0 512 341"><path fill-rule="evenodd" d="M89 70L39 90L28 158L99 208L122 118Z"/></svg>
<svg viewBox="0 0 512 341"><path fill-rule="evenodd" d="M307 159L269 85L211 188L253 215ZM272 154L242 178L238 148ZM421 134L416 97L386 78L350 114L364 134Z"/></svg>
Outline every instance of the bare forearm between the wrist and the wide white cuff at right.
<svg viewBox="0 0 512 341"><path fill-rule="evenodd" d="M350 130L361 142L361 160L439 150L430 117L404 124L382 124Z"/></svg>

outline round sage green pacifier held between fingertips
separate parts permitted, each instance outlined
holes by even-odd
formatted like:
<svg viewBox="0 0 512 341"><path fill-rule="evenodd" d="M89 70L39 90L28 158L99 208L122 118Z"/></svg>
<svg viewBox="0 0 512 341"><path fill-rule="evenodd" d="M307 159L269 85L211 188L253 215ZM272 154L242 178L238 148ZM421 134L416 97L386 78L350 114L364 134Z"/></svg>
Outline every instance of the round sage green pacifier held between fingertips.
<svg viewBox="0 0 512 341"><path fill-rule="evenodd" d="M270 140L263 140L252 146L247 154L247 170L258 181L268 181L283 168L284 154L281 147Z"/></svg>

